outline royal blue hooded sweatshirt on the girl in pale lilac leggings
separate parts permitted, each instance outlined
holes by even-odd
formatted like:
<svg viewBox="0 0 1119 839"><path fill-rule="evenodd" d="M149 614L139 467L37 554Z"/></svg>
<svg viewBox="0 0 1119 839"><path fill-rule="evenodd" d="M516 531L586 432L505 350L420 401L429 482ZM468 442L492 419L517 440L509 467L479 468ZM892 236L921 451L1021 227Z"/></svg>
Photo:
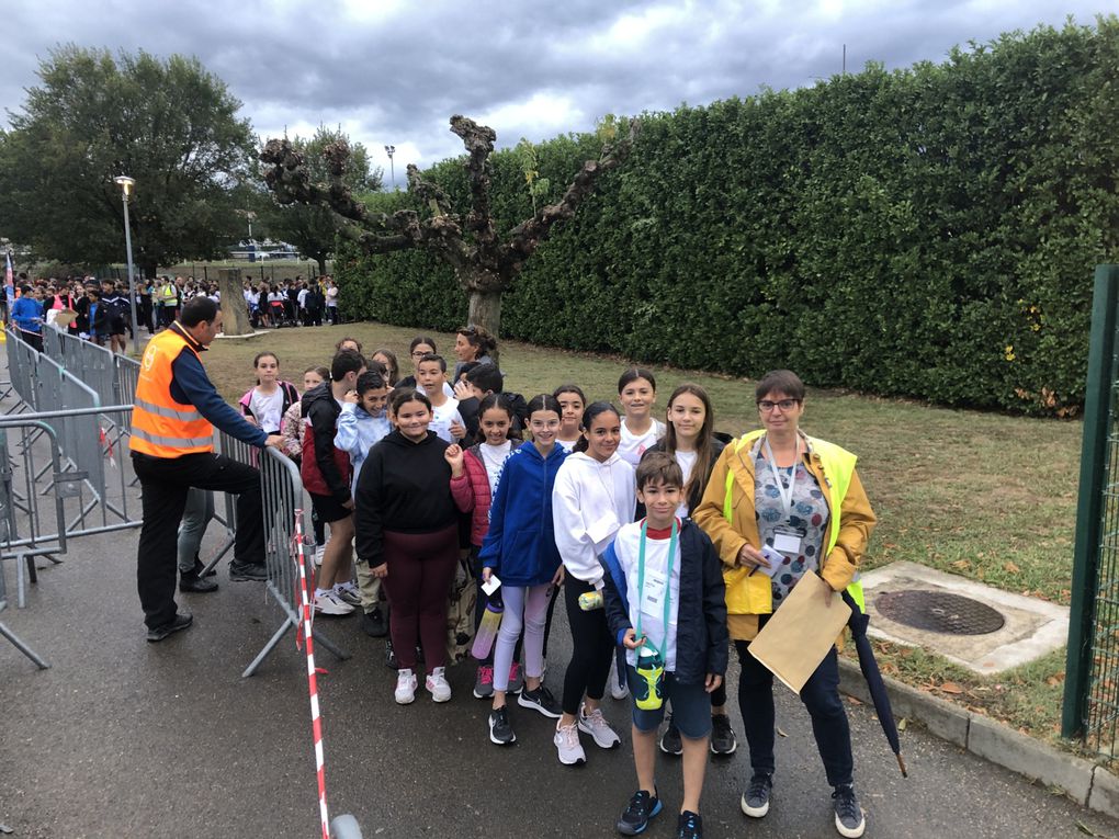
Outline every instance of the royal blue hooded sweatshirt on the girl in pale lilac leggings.
<svg viewBox="0 0 1119 839"><path fill-rule="evenodd" d="M478 560L506 585L544 585L560 567L552 489L566 456L557 445L545 459L529 442L516 449L501 466Z"/></svg>

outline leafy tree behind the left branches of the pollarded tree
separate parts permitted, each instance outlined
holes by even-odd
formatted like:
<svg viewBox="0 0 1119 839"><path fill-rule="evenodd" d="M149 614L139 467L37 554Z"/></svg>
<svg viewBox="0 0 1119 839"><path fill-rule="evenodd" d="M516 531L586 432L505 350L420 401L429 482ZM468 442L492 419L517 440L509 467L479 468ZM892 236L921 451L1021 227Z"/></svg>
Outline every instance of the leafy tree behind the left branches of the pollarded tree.
<svg viewBox="0 0 1119 839"><path fill-rule="evenodd" d="M344 163L341 181L351 192L360 195L380 189L384 170L373 169L369 153L361 143L351 143L341 129L331 130L320 125L310 140L295 138L291 148L308 162L311 178L325 181L330 177L323 150L332 143L345 143L349 150ZM338 233L335 214L327 207L305 204L282 205L265 196L266 205L262 220L273 238L295 245L300 252L319 263L319 273L327 273L327 257L333 253Z"/></svg>

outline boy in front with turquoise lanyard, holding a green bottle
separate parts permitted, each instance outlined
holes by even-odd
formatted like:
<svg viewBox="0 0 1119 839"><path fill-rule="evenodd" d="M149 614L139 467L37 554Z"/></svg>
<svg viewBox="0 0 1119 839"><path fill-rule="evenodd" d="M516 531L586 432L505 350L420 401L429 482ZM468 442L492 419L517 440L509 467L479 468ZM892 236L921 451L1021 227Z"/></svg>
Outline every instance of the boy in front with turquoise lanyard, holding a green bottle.
<svg viewBox="0 0 1119 839"><path fill-rule="evenodd" d="M684 474L676 459L651 452L637 468L637 496L647 517L623 526L602 556L606 620L627 650L633 703L638 791L618 820L636 836L661 810L655 782L657 728L665 700L684 743L684 801L678 839L703 836L703 792L711 737L711 692L727 661L726 602L718 555L690 519L676 518Z"/></svg>

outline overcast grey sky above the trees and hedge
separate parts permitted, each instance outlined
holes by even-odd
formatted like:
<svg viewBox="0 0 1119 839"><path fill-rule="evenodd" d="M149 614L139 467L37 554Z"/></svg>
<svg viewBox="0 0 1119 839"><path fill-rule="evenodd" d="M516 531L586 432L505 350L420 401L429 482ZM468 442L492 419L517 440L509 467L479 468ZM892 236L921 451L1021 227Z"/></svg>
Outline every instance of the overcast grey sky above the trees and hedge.
<svg viewBox="0 0 1119 839"><path fill-rule="evenodd" d="M1113 0L8 0L0 105L19 110L59 44L197 56L262 136L338 125L389 178L385 144L426 166L462 147L448 119L500 145L592 128L605 113L671 110L814 84L866 62L941 62L1000 32L1091 23ZM7 114L0 114L7 124Z"/></svg>

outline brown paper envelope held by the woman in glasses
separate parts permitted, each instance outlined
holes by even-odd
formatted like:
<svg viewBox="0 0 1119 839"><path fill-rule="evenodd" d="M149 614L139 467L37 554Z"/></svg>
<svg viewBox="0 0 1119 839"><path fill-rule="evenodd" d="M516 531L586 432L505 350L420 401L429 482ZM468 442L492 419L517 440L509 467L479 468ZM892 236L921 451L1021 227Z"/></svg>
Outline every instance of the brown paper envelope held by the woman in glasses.
<svg viewBox="0 0 1119 839"><path fill-rule="evenodd" d="M831 592L829 605L825 605L825 591ZM843 597L816 574L806 574L750 642L750 652L799 694L849 618L850 606Z"/></svg>

